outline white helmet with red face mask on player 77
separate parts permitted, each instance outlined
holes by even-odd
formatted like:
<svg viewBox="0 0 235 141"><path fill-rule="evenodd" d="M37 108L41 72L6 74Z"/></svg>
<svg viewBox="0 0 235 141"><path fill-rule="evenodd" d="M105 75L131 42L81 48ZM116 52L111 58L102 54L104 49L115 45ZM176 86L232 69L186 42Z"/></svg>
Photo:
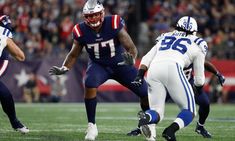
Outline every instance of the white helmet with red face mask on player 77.
<svg viewBox="0 0 235 141"><path fill-rule="evenodd" d="M97 0L88 0L83 7L85 23L93 29L97 29L104 21L104 7Z"/></svg>

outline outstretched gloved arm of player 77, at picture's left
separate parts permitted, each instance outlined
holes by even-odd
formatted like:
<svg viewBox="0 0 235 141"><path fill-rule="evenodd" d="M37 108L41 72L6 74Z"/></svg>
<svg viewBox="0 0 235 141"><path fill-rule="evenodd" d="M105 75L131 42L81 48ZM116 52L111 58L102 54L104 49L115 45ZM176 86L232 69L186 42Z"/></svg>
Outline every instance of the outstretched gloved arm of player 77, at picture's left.
<svg viewBox="0 0 235 141"><path fill-rule="evenodd" d="M82 48L83 47L77 41L74 40L72 49L70 50L70 52L66 56L62 67L57 67L57 66L51 67L49 70L49 74L50 75L61 75L61 74L65 74L67 71L69 71L73 67L75 62L77 61L77 58L82 51Z"/></svg>

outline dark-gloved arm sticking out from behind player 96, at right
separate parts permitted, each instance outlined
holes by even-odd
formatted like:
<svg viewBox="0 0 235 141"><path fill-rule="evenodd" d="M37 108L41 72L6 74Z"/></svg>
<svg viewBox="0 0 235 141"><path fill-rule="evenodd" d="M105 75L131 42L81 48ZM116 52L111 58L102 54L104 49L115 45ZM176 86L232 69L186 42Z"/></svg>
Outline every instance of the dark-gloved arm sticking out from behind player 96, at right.
<svg viewBox="0 0 235 141"><path fill-rule="evenodd" d="M217 76L220 85L223 86L225 82L225 77L218 71L218 69L209 61L205 61L204 66L207 71Z"/></svg>

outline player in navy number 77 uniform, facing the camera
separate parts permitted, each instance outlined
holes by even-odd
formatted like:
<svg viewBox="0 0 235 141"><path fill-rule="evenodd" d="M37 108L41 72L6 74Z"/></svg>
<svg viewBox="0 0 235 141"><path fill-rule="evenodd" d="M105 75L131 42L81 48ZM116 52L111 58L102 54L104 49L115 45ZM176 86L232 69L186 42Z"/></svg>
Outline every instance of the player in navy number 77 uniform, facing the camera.
<svg viewBox="0 0 235 141"><path fill-rule="evenodd" d="M85 107L88 128L85 140L95 140L98 130L95 122L97 88L108 79L114 79L129 88L138 97L143 111L149 109L147 84L141 87L131 82L137 76L133 66L137 49L125 29L124 20L119 15L104 16L103 5L96 0L88 0L83 8L85 21L73 28L73 46L62 67L53 66L49 73L61 75L69 71L83 47L89 56L85 76Z"/></svg>

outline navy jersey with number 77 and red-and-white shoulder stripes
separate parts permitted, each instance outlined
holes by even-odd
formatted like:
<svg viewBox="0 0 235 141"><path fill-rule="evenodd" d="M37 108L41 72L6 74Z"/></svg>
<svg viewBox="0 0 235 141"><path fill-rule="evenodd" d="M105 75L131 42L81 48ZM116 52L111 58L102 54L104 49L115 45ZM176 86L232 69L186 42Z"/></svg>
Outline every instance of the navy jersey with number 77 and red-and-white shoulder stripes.
<svg viewBox="0 0 235 141"><path fill-rule="evenodd" d="M122 62L124 48L118 40L118 32L125 26L119 15L106 16L99 33L84 22L73 28L73 38L84 46L89 58L101 65L115 66Z"/></svg>

